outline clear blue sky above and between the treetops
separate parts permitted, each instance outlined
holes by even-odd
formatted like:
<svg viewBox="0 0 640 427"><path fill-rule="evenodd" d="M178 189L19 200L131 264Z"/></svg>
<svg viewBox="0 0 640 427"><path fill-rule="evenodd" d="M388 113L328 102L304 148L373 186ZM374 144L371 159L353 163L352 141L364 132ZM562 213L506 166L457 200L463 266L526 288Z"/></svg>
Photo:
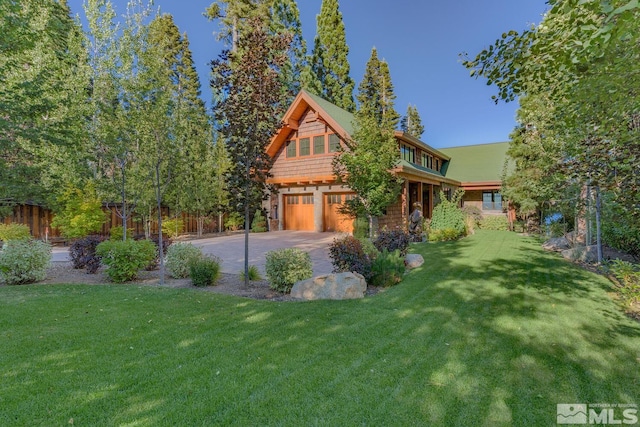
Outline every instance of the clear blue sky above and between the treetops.
<svg viewBox="0 0 640 427"><path fill-rule="evenodd" d="M112 2L118 14L125 12L127 0ZM84 17L83 0L68 3ZM208 63L223 48L214 35L217 24L202 16L209 4L211 0L155 0L189 36L207 105ZM321 4L298 0L309 51ZM458 54L475 56L503 32L539 23L546 9L545 0L342 0L351 77L357 86L375 46L389 63L396 110L404 115L409 103L417 106L426 129L424 142L441 148L506 141L516 125L517 103L495 105L495 89L470 78Z"/></svg>

